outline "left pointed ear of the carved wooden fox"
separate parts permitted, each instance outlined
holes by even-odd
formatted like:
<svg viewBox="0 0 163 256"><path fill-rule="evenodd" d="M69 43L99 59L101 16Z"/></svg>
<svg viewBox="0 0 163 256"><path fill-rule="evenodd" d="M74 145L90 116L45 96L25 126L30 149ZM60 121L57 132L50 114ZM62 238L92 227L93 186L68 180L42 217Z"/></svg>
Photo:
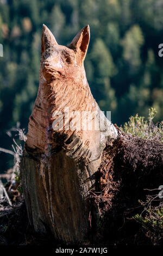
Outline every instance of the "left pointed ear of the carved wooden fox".
<svg viewBox="0 0 163 256"><path fill-rule="evenodd" d="M45 51L51 51L53 45L58 45L52 32L43 24L41 37L41 56Z"/></svg>

